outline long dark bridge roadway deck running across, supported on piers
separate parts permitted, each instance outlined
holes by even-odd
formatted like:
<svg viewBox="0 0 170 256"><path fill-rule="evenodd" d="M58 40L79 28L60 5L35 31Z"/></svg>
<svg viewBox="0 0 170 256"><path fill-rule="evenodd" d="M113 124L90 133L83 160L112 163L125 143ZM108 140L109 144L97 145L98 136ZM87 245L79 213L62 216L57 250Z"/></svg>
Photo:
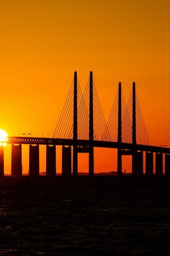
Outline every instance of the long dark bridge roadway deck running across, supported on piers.
<svg viewBox="0 0 170 256"><path fill-rule="evenodd" d="M36 137L7 137L8 144L31 144L31 145L61 145L61 146L78 146L89 147L91 145L89 140L73 140L73 139L54 139L54 138L36 138ZM132 143L119 143L113 141L98 141L92 142L94 147L102 148L121 148L124 150L140 150L155 153L170 154L170 148L147 146L147 145L132 145Z"/></svg>

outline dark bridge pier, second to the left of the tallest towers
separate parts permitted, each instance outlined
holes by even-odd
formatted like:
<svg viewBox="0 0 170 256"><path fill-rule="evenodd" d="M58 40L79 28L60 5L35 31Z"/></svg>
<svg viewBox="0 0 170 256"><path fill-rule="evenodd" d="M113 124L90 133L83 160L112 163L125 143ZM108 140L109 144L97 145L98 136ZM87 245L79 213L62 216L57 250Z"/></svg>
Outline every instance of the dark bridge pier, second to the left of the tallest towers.
<svg viewBox="0 0 170 256"><path fill-rule="evenodd" d="M46 146L46 175L56 175L56 147Z"/></svg>

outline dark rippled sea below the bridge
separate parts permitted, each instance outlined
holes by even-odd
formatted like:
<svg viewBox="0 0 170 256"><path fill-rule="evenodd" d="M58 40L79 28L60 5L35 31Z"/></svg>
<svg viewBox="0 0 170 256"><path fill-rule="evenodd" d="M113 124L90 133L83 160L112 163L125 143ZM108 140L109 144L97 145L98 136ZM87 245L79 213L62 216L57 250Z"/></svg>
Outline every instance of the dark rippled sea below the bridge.
<svg viewBox="0 0 170 256"><path fill-rule="evenodd" d="M170 255L170 179L0 179L0 255Z"/></svg>

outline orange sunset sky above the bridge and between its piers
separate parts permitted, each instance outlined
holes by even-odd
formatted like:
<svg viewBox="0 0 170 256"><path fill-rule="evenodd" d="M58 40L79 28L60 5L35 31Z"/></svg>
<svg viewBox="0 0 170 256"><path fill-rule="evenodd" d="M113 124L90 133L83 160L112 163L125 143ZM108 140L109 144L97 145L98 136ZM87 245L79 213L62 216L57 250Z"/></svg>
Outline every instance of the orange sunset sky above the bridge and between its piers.
<svg viewBox="0 0 170 256"><path fill-rule="evenodd" d="M152 145L170 147L169 11L169 0L0 0L0 128L11 136L52 137L74 71L83 91L91 70L106 120L118 82L126 100L135 82ZM57 152L59 170L59 147ZM116 169L115 150L95 154L96 172ZM88 156L79 160L80 170L87 171ZM123 168L129 170L129 161L124 159Z"/></svg>

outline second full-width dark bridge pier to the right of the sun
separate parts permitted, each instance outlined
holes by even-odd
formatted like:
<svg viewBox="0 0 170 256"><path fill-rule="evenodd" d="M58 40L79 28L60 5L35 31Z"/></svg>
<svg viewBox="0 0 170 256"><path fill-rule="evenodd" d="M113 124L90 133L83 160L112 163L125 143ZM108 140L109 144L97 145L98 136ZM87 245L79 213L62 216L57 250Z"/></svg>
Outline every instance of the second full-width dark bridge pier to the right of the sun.
<svg viewBox="0 0 170 256"><path fill-rule="evenodd" d="M39 175L39 145L29 145L29 175Z"/></svg>

